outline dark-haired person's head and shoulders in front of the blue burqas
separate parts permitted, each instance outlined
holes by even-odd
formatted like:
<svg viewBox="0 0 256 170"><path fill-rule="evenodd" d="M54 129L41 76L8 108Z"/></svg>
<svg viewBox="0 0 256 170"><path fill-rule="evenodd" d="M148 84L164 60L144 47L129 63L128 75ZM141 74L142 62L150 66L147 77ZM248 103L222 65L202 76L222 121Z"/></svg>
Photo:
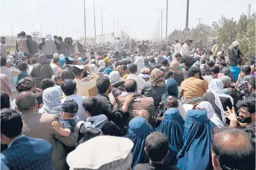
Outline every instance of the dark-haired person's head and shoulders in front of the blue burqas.
<svg viewBox="0 0 256 170"><path fill-rule="evenodd" d="M146 138L144 150L149 157L149 164L137 164L134 170L178 170L176 166L164 164L164 159L169 154L169 141L162 132L150 133Z"/></svg>

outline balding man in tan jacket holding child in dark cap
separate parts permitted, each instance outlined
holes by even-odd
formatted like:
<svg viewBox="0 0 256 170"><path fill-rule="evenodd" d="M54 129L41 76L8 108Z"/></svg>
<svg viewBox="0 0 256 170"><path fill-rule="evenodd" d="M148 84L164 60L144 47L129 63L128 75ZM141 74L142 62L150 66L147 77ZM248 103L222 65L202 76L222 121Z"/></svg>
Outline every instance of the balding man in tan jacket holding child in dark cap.
<svg viewBox="0 0 256 170"><path fill-rule="evenodd" d="M38 104L36 96L29 91L21 92L16 97L17 110L22 114L24 135L32 138L44 139L52 144L52 158L54 169L67 169L65 146L73 147L78 138L78 131L74 131L70 136L64 137L52 129L52 122L59 118L56 114L37 113ZM63 128L63 127L62 127Z"/></svg>

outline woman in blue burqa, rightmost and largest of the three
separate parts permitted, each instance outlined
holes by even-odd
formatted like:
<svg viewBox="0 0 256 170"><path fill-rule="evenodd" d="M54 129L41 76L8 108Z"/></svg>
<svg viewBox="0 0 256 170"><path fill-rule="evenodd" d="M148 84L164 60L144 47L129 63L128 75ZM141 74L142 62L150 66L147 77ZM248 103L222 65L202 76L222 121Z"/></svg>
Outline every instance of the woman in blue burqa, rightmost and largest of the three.
<svg viewBox="0 0 256 170"><path fill-rule="evenodd" d="M180 170L212 170L213 128L205 110L190 110L185 118L184 146L177 155Z"/></svg>

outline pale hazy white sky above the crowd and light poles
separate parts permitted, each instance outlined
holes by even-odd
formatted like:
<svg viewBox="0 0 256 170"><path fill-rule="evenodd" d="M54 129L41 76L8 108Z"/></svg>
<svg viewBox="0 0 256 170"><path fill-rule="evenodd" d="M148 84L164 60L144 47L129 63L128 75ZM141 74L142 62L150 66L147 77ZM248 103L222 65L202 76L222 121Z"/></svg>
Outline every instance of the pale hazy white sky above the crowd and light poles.
<svg viewBox="0 0 256 170"><path fill-rule="evenodd" d="M27 34L33 31L73 37L84 35L83 0L1 0L1 35L16 35L21 30ZM86 35L94 37L93 0L86 0ZM168 0L168 30L170 34L175 28L185 27L187 0ZM247 5L251 4L251 13L255 12L255 0L192 0L188 26L195 27L198 18L202 23L211 24L222 15L238 20L241 13L247 14ZM101 34L101 7L103 8L103 34L113 32L115 17L115 35L120 27L129 27L130 37L149 39L156 30L161 10L166 8L166 0L94 0L96 17L96 35ZM163 10L163 37L166 32L166 10ZM22 20L22 24L21 24ZM161 22L161 20L160 20ZM120 26L120 27L119 27ZM57 27L57 29L56 29ZM75 30L75 31L73 31ZM160 23L161 30L161 23ZM74 35L74 36L73 36Z"/></svg>

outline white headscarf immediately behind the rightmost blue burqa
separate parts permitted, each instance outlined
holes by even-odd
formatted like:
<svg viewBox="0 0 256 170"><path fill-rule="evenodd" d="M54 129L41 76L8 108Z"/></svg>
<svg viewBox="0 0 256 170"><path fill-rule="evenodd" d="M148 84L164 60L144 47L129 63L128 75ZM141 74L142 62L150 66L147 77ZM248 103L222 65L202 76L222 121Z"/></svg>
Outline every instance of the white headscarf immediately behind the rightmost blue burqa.
<svg viewBox="0 0 256 170"><path fill-rule="evenodd" d="M197 107L195 107L197 110L206 110L207 117L209 120L211 120L216 126L219 128L224 127L223 122L219 119L218 115L216 115L212 104L210 102L204 101L200 102Z"/></svg>

